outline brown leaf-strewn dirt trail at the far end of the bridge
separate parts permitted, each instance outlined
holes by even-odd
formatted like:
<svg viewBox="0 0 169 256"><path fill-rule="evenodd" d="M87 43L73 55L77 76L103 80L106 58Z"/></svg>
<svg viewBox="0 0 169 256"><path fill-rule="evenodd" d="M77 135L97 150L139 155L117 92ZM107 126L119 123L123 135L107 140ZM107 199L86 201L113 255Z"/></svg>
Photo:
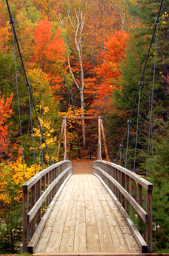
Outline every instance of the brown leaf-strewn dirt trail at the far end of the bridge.
<svg viewBox="0 0 169 256"><path fill-rule="evenodd" d="M92 174L93 160L72 161L73 174Z"/></svg>

